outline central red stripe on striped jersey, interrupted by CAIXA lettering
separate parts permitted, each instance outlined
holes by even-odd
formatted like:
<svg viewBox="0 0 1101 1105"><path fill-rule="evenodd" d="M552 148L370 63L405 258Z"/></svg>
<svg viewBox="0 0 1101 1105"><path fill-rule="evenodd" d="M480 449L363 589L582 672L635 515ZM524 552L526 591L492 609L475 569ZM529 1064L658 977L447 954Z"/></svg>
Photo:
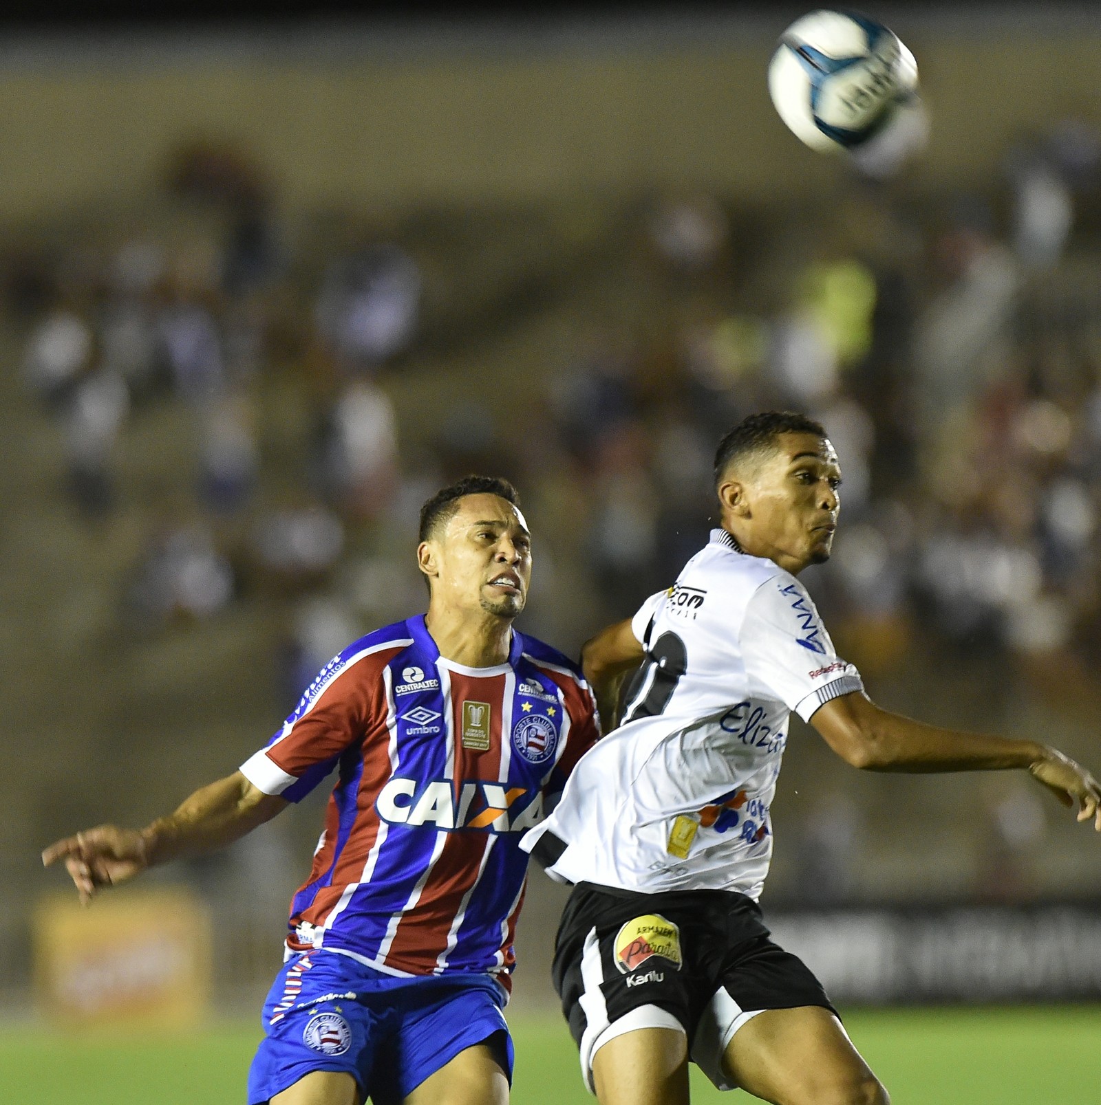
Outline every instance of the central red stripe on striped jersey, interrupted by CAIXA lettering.
<svg viewBox="0 0 1101 1105"><path fill-rule="evenodd" d="M451 732L454 739L451 786L458 809L463 779L500 778L502 714L507 680L505 675L471 676L458 672L450 675ZM485 743L482 736L484 728L469 726L470 718L464 707L468 702L490 708L489 747L480 747ZM464 724L468 724L465 743ZM481 811L473 812L476 817ZM487 844L487 833L448 834L417 905L398 923L386 955L389 966L415 971L436 967L437 958L448 946L448 936L462 899L478 881Z"/></svg>

